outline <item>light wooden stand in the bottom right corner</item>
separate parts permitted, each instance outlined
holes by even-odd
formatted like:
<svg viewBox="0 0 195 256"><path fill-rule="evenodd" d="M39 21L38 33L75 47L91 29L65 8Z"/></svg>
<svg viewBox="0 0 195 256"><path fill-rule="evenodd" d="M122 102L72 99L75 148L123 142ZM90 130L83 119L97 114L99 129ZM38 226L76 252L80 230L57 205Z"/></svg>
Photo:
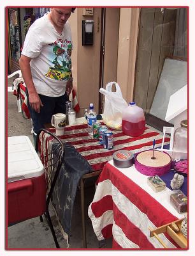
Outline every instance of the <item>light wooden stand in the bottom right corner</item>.
<svg viewBox="0 0 195 256"><path fill-rule="evenodd" d="M166 232L175 241L175 243L177 243L178 246L180 246L180 248L187 248L187 239L182 234L181 227L180 227L183 220L184 220L184 218L182 218L180 220L173 221L173 222L168 223L166 225L163 225L161 227L155 228L154 230L152 230L152 228L149 228L149 230L150 230L150 237L155 236L155 238L164 246L164 248L168 248L166 246L166 244L164 244L162 239L159 236L157 236L158 234ZM178 226L178 228L180 229L180 232L176 233L170 227L170 225L172 223L175 223Z"/></svg>

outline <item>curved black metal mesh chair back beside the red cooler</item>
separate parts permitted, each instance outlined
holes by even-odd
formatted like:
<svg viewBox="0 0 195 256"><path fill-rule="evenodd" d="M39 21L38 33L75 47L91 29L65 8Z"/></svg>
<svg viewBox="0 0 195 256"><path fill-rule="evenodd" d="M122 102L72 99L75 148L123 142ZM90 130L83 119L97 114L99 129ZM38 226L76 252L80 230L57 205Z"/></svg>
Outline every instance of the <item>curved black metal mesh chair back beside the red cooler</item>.
<svg viewBox="0 0 195 256"><path fill-rule="evenodd" d="M45 179L47 182L47 207L54 191L54 186L59 175L59 171L64 159L64 145L62 141L52 132L47 129L40 129L37 134L36 152L39 153L39 143L41 134L49 134L52 137L49 148L45 148L40 156L45 170Z"/></svg>

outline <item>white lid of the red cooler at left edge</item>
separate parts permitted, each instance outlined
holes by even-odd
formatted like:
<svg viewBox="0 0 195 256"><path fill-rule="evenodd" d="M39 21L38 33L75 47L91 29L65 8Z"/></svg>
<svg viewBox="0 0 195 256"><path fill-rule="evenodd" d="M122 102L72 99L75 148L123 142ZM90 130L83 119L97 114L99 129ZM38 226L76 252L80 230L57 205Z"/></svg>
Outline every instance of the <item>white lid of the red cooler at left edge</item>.
<svg viewBox="0 0 195 256"><path fill-rule="evenodd" d="M43 164L29 138L8 137L8 182L38 177L43 173Z"/></svg>

